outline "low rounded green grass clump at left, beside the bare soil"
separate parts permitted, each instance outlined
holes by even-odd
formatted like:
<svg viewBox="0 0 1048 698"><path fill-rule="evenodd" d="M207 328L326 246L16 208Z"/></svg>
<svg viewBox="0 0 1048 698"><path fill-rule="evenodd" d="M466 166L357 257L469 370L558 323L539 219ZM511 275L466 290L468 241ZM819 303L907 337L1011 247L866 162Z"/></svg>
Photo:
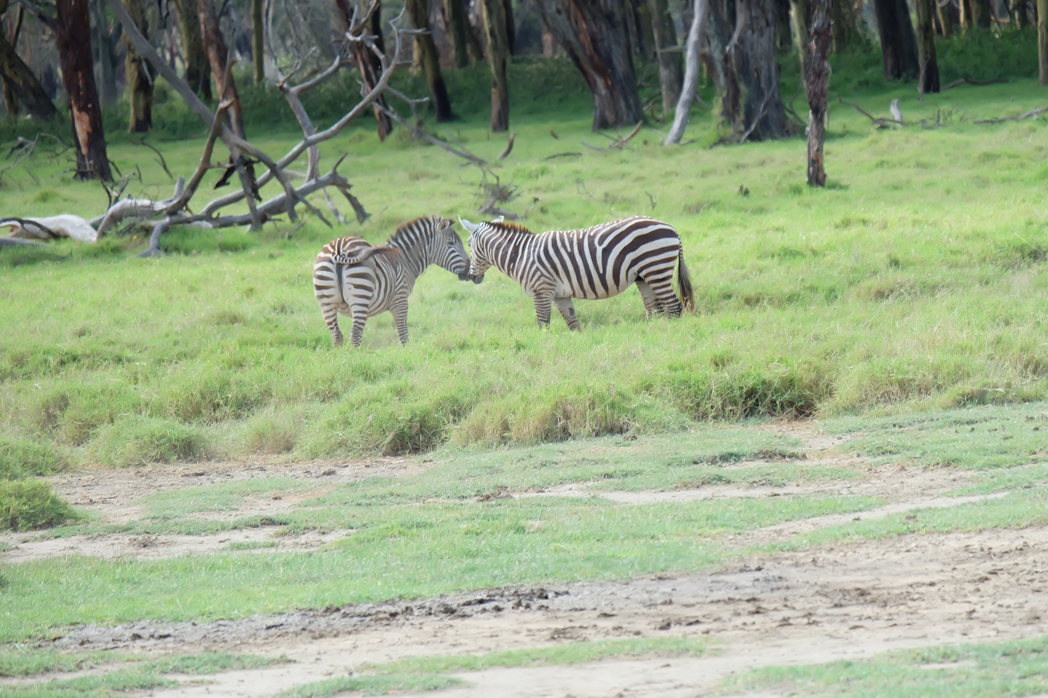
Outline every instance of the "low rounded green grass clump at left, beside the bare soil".
<svg viewBox="0 0 1048 698"><path fill-rule="evenodd" d="M88 447L88 457L124 467L199 458L205 451L206 440L198 427L134 416L103 427Z"/></svg>

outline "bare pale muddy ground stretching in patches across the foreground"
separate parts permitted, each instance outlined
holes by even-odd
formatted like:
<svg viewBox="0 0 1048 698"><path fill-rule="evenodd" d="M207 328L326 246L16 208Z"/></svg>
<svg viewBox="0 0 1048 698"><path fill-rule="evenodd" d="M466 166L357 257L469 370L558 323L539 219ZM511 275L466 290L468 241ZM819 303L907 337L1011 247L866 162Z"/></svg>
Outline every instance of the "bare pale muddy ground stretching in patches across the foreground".
<svg viewBox="0 0 1048 698"><path fill-rule="evenodd" d="M808 444L811 459L826 444ZM826 460L830 464L830 460ZM843 460L833 460L840 467ZM860 476L800 488L703 488L672 493L605 493L626 503L784 493L869 494L883 506L859 514L792 521L735 536L733 547L784 540L796 533L974 497L942 497L963 483L952 470L871 468L849 460ZM402 460L266 466L208 464L182 470L81 472L56 479L60 492L103 520L140 515L126 502L149 492L235 477L293 475L315 483L311 496L339 481L376 473L412 472ZM742 464L741 467L745 467ZM201 474L202 473L202 474ZM591 493L584 486L515 496ZM998 496L998 495L995 495ZM293 503L293 502L291 502ZM252 500L236 515L286 511L287 500ZM285 509L281 509L285 508ZM272 540L253 528L216 536L96 536L26 540L4 536L7 562L79 551L155 558L204 553L233 541ZM342 532L282 536L280 549L308 549ZM264 550L271 551L268 547ZM245 550L244 555L257 554ZM706 573L484 589L409 602L265 614L212 623L134 623L82 627L54 640L64 649L147 653L204 649L293 660L211 677L183 677L156 696L271 696L402 656L488 652L581 639L689 635L711 638L713 652L687 658L605 660L575 667L490 669L463 675L467 688L442 696L706 695L732 672L751 667L866 657L902 647L1006 639L1048 633L1048 528L903 536L817 551L751 557ZM762 695L777 695L766 693Z"/></svg>

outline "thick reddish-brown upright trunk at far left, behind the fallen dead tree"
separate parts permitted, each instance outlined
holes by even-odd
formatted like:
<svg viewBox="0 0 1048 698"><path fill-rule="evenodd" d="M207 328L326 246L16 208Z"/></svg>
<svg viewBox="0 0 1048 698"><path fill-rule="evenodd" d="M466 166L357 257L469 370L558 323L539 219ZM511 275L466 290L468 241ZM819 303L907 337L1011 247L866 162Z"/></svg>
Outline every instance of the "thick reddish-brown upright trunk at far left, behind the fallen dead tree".
<svg viewBox="0 0 1048 698"><path fill-rule="evenodd" d="M112 180L91 60L88 0L57 0L54 38L77 144L77 178Z"/></svg>

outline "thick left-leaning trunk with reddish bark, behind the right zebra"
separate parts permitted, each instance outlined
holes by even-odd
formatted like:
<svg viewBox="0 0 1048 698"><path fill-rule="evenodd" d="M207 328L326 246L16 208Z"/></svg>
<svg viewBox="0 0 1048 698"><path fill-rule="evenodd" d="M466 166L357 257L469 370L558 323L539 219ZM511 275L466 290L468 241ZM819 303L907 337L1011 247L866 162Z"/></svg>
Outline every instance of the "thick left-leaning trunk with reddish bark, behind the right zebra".
<svg viewBox="0 0 1048 698"><path fill-rule="evenodd" d="M643 118L621 0L532 0L593 94L593 130Z"/></svg>

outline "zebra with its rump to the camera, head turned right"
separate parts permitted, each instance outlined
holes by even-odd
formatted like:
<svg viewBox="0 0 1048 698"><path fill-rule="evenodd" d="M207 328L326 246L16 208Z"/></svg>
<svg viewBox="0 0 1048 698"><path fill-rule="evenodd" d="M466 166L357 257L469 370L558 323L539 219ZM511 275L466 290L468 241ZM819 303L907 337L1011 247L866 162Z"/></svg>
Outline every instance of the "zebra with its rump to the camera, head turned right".
<svg viewBox="0 0 1048 698"><path fill-rule="evenodd" d="M417 218L398 227L385 245L347 237L321 249L313 265L313 293L335 346L342 345L339 313L353 318L349 341L359 346L364 323L386 311L393 313L400 343L408 343L408 296L419 274L437 264L462 280L471 278L470 256L454 226L438 216Z"/></svg>

